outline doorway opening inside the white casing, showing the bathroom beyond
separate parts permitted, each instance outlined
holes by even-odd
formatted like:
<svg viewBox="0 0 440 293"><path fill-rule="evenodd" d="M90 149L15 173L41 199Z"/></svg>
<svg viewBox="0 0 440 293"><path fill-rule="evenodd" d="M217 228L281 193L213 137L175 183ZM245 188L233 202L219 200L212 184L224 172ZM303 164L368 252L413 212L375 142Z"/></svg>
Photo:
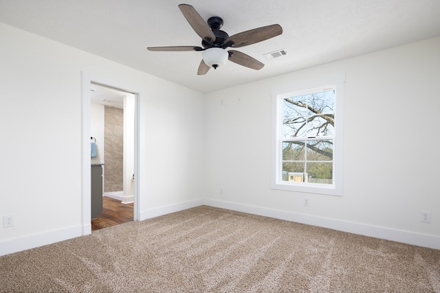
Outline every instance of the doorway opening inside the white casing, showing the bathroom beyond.
<svg viewBox="0 0 440 293"><path fill-rule="evenodd" d="M90 86L92 172L96 165L102 167L101 202L91 189L91 231L95 231L133 221L135 95L96 82ZM93 185L93 173L91 178Z"/></svg>

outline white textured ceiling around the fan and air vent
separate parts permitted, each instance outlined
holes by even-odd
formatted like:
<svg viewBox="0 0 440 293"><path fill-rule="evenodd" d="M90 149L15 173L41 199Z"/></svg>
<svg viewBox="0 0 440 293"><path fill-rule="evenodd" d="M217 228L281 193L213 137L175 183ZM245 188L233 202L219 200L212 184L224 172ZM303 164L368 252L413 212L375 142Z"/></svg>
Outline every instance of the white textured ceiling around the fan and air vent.
<svg viewBox="0 0 440 293"><path fill-rule="evenodd" d="M237 49L260 71L227 62L200 76L201 52L146 50L200 46L180 3L221 16L230 36L274 23L283 34ZM0 22L206 93L440 36L440 0L0 0ZM277 49L288 55L263 56Z"/></svg>

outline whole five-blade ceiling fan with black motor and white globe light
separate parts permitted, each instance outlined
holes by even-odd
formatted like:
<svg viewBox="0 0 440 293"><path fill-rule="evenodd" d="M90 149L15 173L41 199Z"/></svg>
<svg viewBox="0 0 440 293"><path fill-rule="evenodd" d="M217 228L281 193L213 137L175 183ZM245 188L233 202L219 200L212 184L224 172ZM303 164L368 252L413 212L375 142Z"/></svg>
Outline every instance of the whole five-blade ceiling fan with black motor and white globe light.
<svg viewBox="0 0 440 293"><path fill-rule="evenodd" d="M200 62L198 75L208 73L209 69L221 67L226 60L236 64L259 70L264 64L249 55L236 50L226 51L227 47L239 48L283 34L283 28L276 25L267 25L253 30L241 32L229 36L220 30L223 19L212 16L205 22L200 14L188 4L180 4L179 9L184 14L192 29L201 37L201 46L174 46L174 47L148 47L149 51L203 51L203 59Z"/></svg>

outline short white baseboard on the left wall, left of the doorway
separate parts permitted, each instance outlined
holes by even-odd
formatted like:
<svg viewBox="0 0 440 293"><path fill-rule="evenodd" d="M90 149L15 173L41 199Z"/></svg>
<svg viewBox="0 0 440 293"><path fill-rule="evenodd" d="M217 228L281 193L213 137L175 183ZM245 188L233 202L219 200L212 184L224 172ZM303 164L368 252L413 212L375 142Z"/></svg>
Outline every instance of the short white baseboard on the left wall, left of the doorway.
<svg viewBox="0 0 440 293"><path fill-rule="evenodd" d="M0 241L0 256L79 237L82 235L82 233L82 226L71 226L39 234Z"/></svg>

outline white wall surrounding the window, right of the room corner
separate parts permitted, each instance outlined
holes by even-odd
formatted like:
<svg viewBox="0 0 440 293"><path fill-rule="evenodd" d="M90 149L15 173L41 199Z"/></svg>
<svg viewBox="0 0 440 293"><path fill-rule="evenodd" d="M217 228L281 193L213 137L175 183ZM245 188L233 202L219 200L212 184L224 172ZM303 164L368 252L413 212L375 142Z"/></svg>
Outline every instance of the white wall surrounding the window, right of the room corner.
<svg viewBox="0 0 440 293"><path fill-rule="evenodd" d="M343 196L272 190L272 89L339 72ZM433 38L208 94L206 203L440 248L439 82Z"/></svg>

